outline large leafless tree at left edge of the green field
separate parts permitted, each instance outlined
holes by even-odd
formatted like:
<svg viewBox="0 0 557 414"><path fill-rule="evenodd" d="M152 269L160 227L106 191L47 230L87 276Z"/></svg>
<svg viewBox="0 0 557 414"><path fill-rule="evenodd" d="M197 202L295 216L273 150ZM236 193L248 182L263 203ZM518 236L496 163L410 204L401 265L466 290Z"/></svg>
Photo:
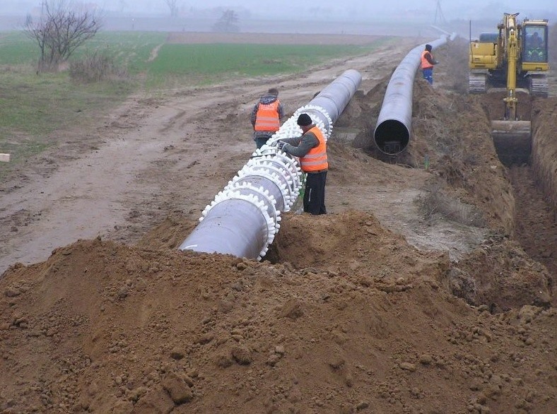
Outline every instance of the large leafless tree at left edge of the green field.
<svg viewBox="0 0 557 414"><path fill-rule="evenodd" d="M37 20L28 15L25 32L40 49L38 71L52 71L67 61L83 42L95 36L100 20L95 9L66 0L43 0Z"/></svg>

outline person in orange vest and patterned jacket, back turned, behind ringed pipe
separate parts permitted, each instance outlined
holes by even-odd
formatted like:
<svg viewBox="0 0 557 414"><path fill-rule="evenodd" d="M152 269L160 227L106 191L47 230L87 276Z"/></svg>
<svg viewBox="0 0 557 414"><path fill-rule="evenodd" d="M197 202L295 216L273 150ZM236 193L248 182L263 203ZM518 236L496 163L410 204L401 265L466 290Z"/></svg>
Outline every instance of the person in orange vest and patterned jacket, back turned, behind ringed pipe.
<svg viewBox="0 0 557 414"><path fill-rule="evenodd" d="M284 107L279 100L279 90L271 88L259 98L250 116L257 148L261 148L276 131L279 131L283 117Z"/></svg>

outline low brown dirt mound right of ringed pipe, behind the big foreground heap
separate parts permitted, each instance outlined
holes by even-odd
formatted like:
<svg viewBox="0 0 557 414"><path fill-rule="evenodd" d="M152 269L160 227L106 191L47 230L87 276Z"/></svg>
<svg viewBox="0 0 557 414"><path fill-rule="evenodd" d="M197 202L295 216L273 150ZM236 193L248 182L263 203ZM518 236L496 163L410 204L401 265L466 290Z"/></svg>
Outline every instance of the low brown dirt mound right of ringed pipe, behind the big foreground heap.
<svg viewBox="0 0 557 414"><path fill-rule="evenodd" d="M348 278L353 273L367 278L379 275L377 283L394 283L403 275L411 283L416 277L435 276L449 268L447 254L419 252L401 235L381 227L373 215L358 211L320 215L312 223L305 215L290 213L272 247L279 261L296 268L322 269ZM414 256L420 259L411 259Z"/></svg>

